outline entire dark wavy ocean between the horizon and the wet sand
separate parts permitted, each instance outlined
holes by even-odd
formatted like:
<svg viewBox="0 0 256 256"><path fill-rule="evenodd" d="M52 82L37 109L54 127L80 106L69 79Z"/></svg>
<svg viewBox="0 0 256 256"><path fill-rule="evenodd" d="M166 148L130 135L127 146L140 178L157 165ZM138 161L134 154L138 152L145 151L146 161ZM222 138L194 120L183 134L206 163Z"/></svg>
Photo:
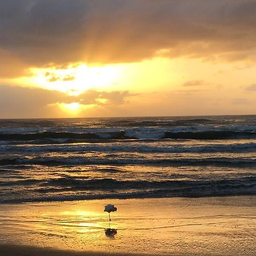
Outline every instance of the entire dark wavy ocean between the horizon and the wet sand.
<svg viewBox="0 0 256 256"><path fill-rule="evenodd" d="M0 203L255 195L256 115L0 120Z"/></svg>

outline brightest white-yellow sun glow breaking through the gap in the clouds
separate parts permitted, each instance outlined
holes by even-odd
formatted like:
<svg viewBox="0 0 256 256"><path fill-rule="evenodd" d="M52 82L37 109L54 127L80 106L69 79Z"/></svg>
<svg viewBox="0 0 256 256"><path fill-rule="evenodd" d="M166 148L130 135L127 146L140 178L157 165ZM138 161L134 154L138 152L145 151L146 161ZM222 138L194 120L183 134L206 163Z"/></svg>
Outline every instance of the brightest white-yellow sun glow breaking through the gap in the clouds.
<svg viewBox="0 0 256 256"><path fill-rule="evenodd" d="M118 67L105 65L90 67L85 63L69 64L67 67L49 65L46 68L30 68L31 77L19 80L44 89L57 90L70 96L78 96L89 89L110 89L118 79ZM71 108L76 108L72 105Z"/></svg>

